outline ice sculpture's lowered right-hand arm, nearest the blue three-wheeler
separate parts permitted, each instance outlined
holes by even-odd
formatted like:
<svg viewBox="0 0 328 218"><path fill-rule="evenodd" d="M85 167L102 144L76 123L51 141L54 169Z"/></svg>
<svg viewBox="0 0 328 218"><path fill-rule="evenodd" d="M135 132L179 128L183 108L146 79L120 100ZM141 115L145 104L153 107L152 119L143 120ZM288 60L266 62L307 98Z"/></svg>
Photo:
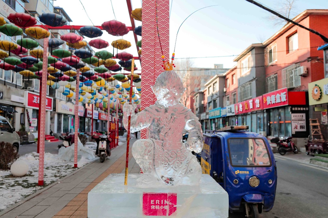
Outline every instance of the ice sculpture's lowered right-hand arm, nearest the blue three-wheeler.
<svg viewBox="0 0 328 218"><path fill-rule="evenodd" d="M185 129L189 136L187 139L187 149L200 153L203 149L203 131L198 118L193 113L188 113L186 117Z"/></svg>

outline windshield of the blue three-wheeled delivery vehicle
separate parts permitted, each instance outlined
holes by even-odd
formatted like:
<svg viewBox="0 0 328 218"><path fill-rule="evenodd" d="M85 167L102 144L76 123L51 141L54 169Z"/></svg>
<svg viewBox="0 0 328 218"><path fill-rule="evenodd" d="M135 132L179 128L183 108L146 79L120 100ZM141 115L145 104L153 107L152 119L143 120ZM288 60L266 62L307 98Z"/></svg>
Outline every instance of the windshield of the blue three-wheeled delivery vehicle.
<svg viewBox="0 0 328 218"><path fill-rule="evenodd" d="M271 166L268 148L261 138L229 138L228 145L232 166Z"/></svg>

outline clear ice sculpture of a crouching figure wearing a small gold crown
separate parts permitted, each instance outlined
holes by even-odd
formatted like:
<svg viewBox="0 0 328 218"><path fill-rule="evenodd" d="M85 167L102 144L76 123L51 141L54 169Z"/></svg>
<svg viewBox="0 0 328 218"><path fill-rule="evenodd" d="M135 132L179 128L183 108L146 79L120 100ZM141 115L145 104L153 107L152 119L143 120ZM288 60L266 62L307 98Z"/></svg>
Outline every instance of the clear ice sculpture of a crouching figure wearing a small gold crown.
<svg viewBox="0 0 328 218"><path fill-rule="evenodd" d="M148 139L139 139L132 147L133 157L144 173L137 183L198 185L202 170L192 151L200 153L203 148L202 129L194 113L179 103L185 91L183 83L173 70L164 71L152 89L157 101L140 113L134 114L135 104L126 102L123 106L126 129L129 114L131 132L148 128ZM183 143L185 130L189 137Z"/></svg>

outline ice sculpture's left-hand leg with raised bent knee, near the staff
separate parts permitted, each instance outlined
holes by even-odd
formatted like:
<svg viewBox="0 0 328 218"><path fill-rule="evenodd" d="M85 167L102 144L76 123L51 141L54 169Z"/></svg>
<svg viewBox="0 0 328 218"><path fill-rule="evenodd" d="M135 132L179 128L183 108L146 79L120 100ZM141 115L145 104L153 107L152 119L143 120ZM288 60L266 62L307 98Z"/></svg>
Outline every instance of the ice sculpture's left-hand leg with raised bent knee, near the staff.
<svg viewBox="0 0 328 218"><path fill-rule="evenodd" d="M132 155L135 162L139 164L143 176L138 178L138 182L150 183L154 175L154 143L150 139L139 139L133 143Z"/></svg>

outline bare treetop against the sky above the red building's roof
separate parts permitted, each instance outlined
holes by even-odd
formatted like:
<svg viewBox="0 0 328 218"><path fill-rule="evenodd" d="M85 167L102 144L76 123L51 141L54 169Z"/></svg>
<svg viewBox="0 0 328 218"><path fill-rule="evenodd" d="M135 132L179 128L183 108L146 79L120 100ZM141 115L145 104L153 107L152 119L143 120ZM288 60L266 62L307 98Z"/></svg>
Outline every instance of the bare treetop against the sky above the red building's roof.
<svg viewBox="0 0 328 218"><path fill-rule="evenodd" d="M292 19L297 15L297 1L298 0L279 0L276 3L275 10L281 15ZM281 19L280 17L277 17L276 15L272 15L266 18L272 21L275 26L288 23L287 21Z"/></svg>

